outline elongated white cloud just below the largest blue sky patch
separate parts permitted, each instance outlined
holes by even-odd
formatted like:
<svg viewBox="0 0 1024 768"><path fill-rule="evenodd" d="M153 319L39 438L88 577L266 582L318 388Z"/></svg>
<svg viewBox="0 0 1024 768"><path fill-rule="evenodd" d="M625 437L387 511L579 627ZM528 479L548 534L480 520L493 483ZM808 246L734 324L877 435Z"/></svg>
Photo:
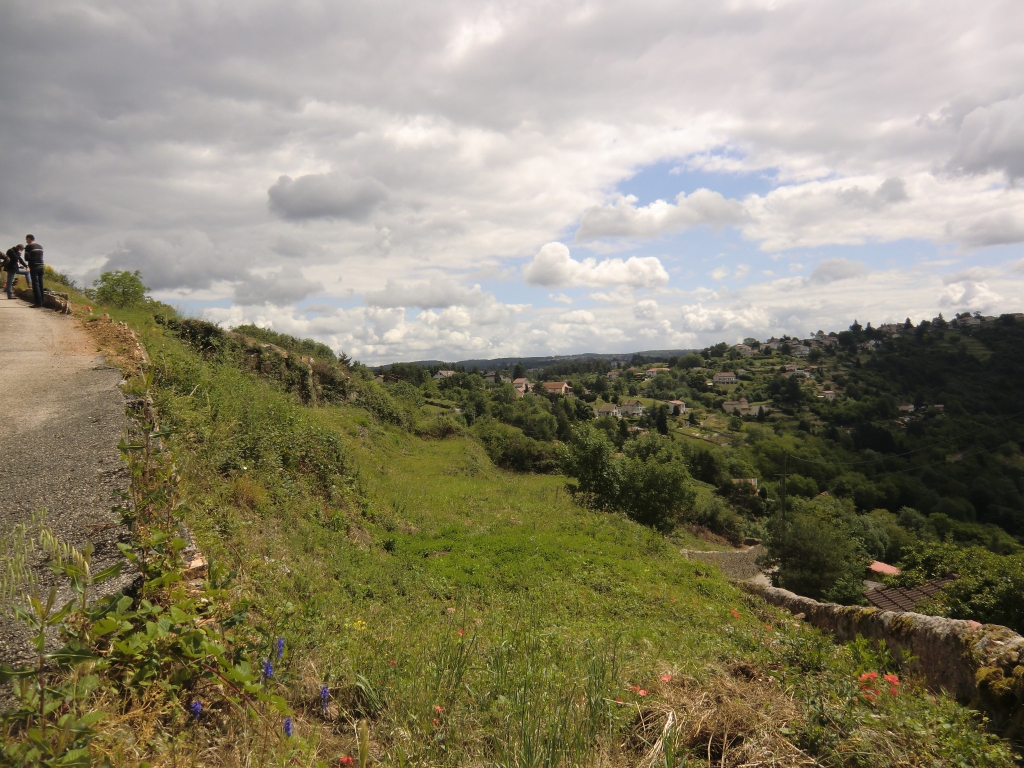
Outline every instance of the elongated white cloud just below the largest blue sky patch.
<svg viewBox="0 0 1024 768"><path fill-rule="evenodd" d="M721 227L737 224L744 217L742 205L719 193L697 189L689 197L680 193L676 203L656 200L636 207L633 195L618 198L610 206L593 206L584 211L577 230L578 241L606 237L654 237L699 224Z"/></svg>

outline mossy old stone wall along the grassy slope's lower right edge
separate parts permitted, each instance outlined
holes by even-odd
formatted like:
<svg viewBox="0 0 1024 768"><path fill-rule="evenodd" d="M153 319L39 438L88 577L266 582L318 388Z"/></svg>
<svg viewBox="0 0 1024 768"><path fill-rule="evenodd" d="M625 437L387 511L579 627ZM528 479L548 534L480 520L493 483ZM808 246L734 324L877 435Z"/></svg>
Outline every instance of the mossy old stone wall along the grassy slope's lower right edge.
<svg viewBox="0 0 1024 768"><path fill-rule="evenodd" d="M986 711L999 724L1024 723L1024 638L997 625L819 603L752 582L742 589L785 608L836 639L884 640L893 654L914 657L910 670L933 689Z"/></svg>

